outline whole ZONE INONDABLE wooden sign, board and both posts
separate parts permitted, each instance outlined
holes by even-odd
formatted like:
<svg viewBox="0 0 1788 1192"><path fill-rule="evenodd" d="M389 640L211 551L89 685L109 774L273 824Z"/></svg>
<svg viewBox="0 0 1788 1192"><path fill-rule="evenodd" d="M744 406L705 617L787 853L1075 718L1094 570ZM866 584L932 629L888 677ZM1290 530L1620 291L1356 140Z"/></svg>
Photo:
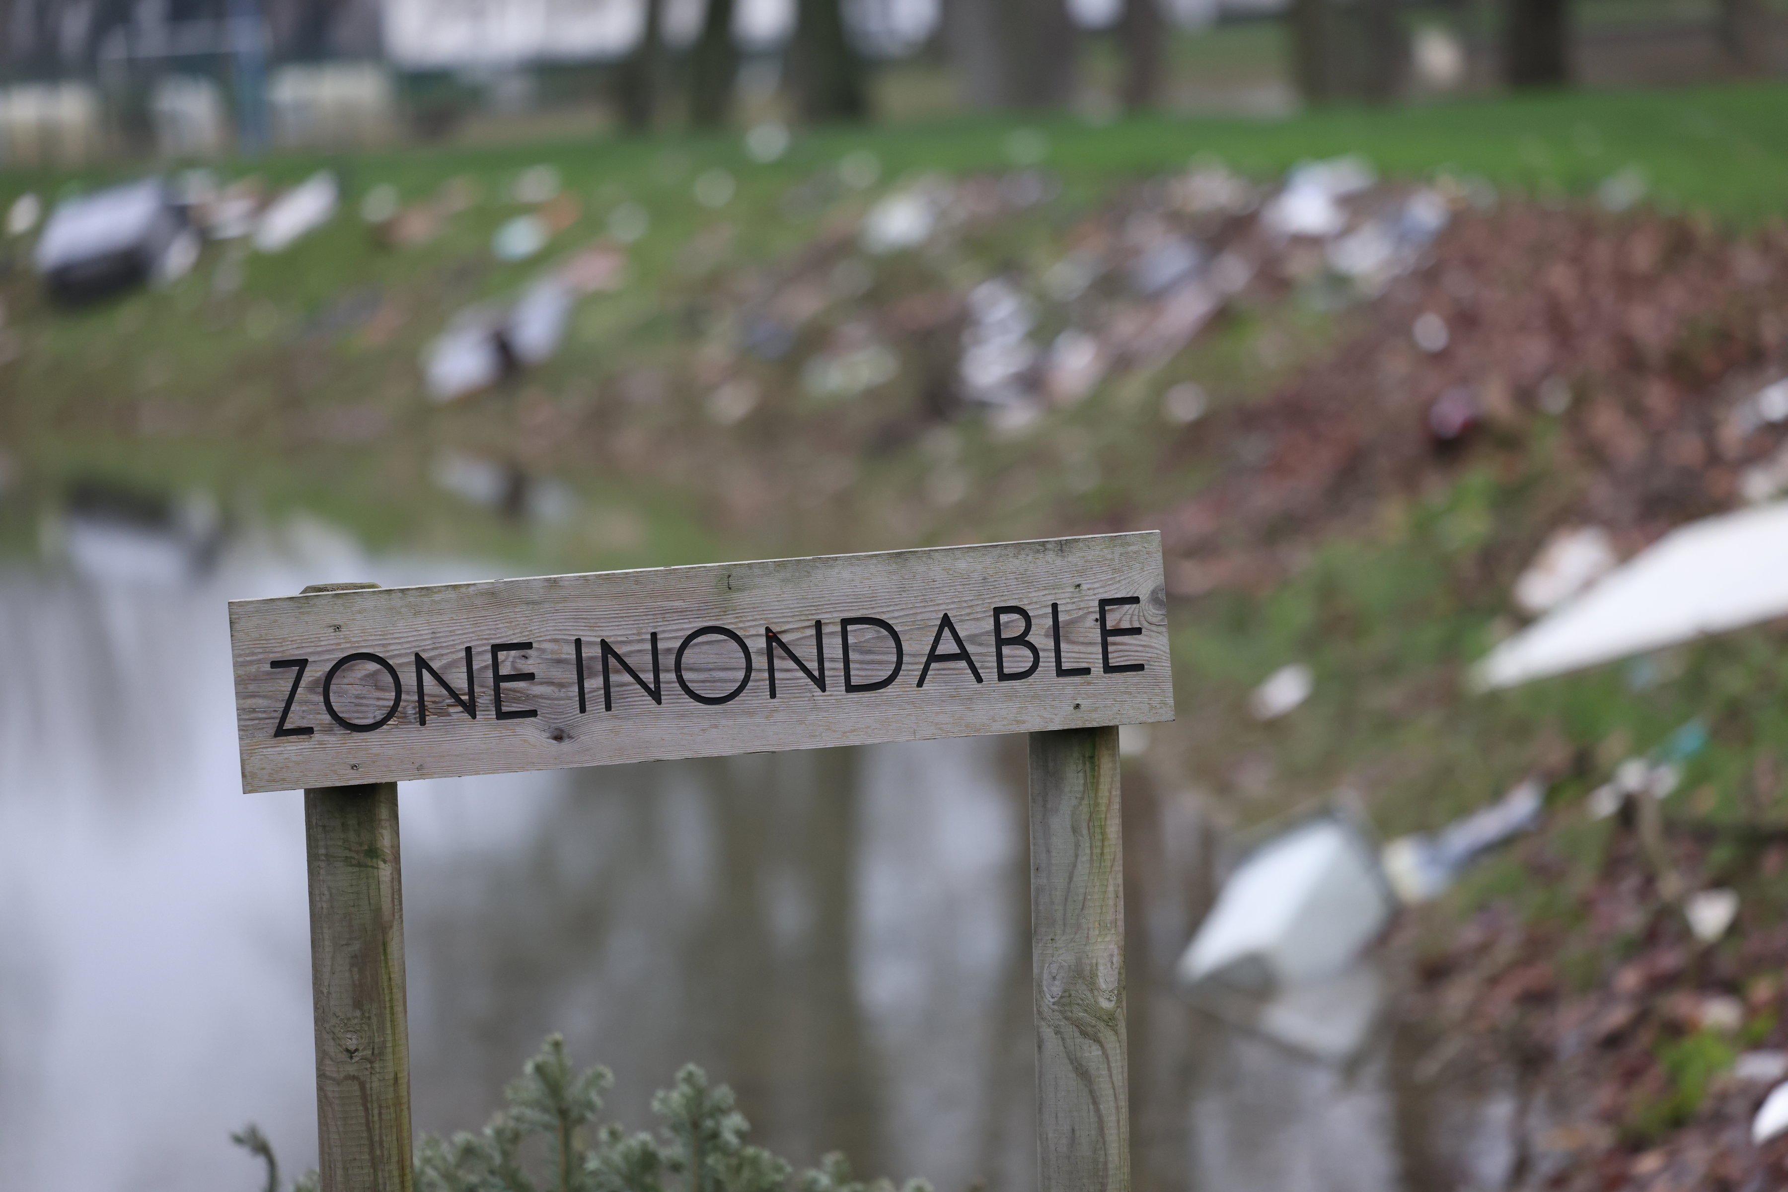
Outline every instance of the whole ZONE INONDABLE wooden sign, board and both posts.
<svg viewBox="0 0 1788 1192"><path fill-rule="evenodd" d="M1119 724L1173 718L1160 536L231 604L243 790L306 788L324 1192L409 1192L397 781L1030 735L1044 1192L1126 1192Z"/></svg>

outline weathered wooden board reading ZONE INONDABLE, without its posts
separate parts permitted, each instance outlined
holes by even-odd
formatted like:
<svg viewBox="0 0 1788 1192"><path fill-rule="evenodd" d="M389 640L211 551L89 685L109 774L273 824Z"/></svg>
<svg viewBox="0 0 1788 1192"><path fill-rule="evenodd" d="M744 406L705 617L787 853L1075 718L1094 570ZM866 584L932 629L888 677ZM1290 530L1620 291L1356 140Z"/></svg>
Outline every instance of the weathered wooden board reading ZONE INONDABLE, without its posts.
<svg viewBox="0 0 1788 1192"><path fill-rule="evenodd" d="M231 602L243 788L1173 718L1160 536Z"/></svg>

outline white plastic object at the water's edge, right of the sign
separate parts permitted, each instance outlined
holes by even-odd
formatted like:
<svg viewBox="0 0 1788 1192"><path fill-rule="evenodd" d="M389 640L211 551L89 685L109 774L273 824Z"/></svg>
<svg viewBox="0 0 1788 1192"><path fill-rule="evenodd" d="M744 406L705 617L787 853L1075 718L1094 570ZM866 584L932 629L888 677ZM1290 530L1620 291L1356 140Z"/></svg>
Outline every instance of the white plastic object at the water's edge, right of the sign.
<svg viewBox="0 0 1788 1192"><path fill-rule="evenodd" d="M1268 840L1223 883L1175 970L1278 990L1339 976L1391 919L1391 890L1364 835L1320 817Z"/></svg>

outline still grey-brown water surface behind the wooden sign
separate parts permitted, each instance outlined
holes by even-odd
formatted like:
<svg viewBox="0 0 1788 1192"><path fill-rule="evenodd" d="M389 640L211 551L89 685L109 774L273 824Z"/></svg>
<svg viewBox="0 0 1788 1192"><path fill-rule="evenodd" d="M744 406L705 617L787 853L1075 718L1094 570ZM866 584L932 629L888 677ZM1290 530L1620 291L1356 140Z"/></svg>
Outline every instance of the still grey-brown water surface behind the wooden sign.
<svg viewBox="0 0 1788 1192"><path fill-rule="evenodd" d="M240 793L224 600L467 575L327 534L0 574L0 1185L257 1187L247 1121L315 1160L302 810ZM1010 740L406 785L418 1128L479 1124L556 1029L628 1121L696 1060L796 1162L1025 1192L1023 799ZM1210 847L1126 799L1137 1187L1502 1187L1495 1095L1441 1113L1395 1038L1325 1069L1166 992Z"/></svg>

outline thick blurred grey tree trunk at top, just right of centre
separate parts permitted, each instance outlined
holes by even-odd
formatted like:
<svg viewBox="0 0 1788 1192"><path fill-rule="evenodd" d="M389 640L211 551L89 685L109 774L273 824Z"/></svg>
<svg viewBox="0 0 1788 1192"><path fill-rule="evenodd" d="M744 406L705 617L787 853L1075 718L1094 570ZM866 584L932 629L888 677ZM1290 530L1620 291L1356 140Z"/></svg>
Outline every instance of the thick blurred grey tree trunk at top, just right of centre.
<svg viewBox="0 0 1788 1192"><path fill-rule="evenodd" d="M1066 0L946 0L944 39L969 107L1062 107L1078 36Z"/></svg>

